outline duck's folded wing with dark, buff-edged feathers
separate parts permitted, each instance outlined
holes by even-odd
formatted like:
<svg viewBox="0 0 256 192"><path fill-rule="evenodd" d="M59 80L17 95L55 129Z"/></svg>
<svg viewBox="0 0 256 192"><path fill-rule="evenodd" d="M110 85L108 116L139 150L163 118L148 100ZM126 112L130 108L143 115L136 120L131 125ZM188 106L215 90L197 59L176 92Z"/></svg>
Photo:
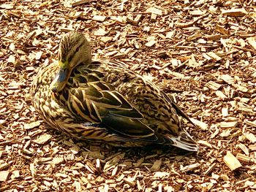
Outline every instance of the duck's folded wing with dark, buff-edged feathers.
<svg viewBox="0 0 256 192"><path fill-rule="evenodd" d="M110 134L116 134L119 141L163 143L165 139L141 120L143 115L107 82L97 77L85 76L81 83L72 82L65 97L67 107L84 121L105 125ZM75 81L75 80L73 80ZM99 139L101 136L99 135ZM97 139L97 138L95 138Z"/></svg>

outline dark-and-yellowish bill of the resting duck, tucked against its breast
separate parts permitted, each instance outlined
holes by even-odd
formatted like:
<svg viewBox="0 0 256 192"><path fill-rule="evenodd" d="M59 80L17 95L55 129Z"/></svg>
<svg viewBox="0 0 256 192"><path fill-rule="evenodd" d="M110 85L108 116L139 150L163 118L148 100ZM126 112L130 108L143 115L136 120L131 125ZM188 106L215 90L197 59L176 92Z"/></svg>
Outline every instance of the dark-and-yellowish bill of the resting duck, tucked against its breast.
<svg viewBox="0 0 256 192"><path fill-rule="evenodd" d="M67 80L69 78L69 69L59 69L56 76L53 79L53 82L50 84L50 89L54 93L61 91L64 89L67 84Z"/></svg>

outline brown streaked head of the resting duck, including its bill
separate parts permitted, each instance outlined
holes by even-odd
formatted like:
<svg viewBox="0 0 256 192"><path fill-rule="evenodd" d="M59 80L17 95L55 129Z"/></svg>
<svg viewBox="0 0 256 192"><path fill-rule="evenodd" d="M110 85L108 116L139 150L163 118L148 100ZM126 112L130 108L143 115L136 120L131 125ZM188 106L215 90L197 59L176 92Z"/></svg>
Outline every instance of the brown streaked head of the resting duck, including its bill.
<svg viewBox="0 0 256 192"><path fill-rule="evenodd" d="M58 72L50 84L53 92L64 89L69 76L79 64L91 64L91 47L84 34L69 32L61 38L59 45Z"/></svg>

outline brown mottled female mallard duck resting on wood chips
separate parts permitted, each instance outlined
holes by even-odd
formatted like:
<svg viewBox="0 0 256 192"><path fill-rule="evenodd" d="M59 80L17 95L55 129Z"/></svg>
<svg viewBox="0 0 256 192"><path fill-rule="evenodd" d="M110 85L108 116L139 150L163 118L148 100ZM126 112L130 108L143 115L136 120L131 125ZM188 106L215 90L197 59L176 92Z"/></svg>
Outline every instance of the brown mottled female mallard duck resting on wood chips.
<svg viewBox="0 0 256 192"><path fill-rule="evenodd" d="M91 61L90 44L78 32L62 37L59 61L42 66L31 96L46 123L78 139L197 151L179 117L189 118L172 99L121 62Z"/></svg>

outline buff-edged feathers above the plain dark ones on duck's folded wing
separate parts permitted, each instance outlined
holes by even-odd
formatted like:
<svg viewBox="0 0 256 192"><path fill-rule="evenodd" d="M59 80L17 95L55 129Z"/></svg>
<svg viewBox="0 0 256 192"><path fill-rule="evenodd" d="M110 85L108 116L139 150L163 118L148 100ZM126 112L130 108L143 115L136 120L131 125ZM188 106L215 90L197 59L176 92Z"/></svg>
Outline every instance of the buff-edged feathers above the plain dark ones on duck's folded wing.
<svg viewBox="0 0 256 192"><path fill-rule="evenodd" d="M118 93L108 82L99 81L99 78L93 77L93 74L87 74L88 77L80 77L78 74L72 82L80 87L69 88L69 109L90 122L102 122L102 118L108 115L129 119L143 119L143 115L132 106L132 104ZM78 81L86 79L86 84L80 84ZM112 116L111 116L112 117ZM123 122L124 123L124 122ZM137 122L138 123L138 122ZM138 126L143 126L139 125ZM121 131L121 130L119 130Z"/></svg>

